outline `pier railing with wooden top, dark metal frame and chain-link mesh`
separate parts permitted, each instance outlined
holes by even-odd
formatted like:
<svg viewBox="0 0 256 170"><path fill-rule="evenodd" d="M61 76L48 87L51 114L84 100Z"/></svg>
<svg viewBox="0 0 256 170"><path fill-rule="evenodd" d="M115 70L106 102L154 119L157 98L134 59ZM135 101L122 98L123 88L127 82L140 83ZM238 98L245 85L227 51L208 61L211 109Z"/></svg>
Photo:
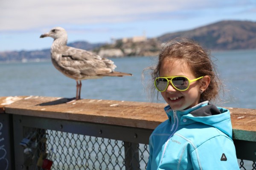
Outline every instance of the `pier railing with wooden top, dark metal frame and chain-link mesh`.
<svg viewBox="0 0 256 170"><path fill-rule="evenodd" d="M3 170L145 170L164 104L0 97ZM256 170L256 110L229 108L242 170Z"/></svg>

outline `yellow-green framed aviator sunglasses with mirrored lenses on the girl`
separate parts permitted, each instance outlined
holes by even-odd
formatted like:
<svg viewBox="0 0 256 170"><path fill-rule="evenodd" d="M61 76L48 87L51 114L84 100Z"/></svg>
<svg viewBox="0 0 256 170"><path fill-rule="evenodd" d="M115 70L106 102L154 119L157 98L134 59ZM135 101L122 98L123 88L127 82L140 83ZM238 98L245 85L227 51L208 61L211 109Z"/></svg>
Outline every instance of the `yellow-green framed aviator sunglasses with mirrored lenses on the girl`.
<svg viewBox="0 0 256 170"><path fill-rule="evenodd" d="M191 82L195 82L196 80L201 79L203 77L204 76L192 80L190 80L186 76L157 77L154 81L154 85L158 91L163 92L166 91L171 82L172 87L174 87L176 90L186 91L189 88Z"/></svg>

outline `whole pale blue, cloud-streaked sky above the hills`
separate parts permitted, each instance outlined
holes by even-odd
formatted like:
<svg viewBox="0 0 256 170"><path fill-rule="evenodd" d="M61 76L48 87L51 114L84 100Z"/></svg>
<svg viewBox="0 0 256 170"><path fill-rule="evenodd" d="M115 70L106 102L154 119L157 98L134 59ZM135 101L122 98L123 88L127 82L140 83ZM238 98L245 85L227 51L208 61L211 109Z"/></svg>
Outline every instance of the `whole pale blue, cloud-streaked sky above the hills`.
<svg viewBox="0 0 256 170"><path fill-rule="evenodd" d="M0 0L0 51L50 48L55 26L68 42L158 37L221 20L256 22L256 0Z"/></svg>

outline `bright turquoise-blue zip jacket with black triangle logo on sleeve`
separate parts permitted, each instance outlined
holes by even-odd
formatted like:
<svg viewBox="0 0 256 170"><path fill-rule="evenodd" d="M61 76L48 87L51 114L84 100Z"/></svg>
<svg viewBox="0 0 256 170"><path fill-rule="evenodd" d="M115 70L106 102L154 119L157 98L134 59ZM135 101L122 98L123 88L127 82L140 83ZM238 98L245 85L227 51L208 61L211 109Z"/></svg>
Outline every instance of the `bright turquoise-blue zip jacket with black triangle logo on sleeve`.
<svg viewBox="0 0 256 170"><path fill-rule="evenodd" d="M169 119L150 136L147 170L239 170L229 110L208 101L164 109Z"/></svg>

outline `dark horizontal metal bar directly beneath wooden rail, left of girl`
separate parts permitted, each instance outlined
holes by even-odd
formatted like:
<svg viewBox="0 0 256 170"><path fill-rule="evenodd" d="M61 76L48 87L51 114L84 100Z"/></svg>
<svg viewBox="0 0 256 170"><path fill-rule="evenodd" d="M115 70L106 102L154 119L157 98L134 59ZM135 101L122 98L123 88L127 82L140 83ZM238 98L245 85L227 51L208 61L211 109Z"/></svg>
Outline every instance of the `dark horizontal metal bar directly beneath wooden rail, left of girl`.
<svg viewBox="0 0 256 170"><path fill-rule="evenodd" d="M90 122L68 121L61 119L14 115L20 126L58 130L87 136L116 139L125 142L148 144L153 130Z"/></svg>

